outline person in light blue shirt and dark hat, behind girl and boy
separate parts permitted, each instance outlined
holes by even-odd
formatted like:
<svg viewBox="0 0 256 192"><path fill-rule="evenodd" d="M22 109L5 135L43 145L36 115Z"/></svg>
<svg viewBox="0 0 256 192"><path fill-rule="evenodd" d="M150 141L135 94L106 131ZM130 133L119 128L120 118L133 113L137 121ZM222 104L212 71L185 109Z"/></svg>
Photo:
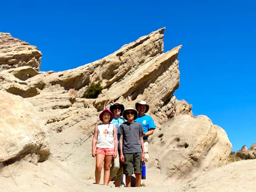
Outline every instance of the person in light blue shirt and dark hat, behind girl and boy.
<svg viewBox="0 0 256 192"><path fill-rule="evenodd" d="M114 114L113 120L110 122L111 124L116 125L116 130L118 131L119 126L126 122L124 118L122 118L122 114L124 111L124 105L119 103L114 103L110 106L110 111ZM117 133L117 139L119 142L120 134ZM115 180L115 186L119 187L121 185L121 182L123 185L126 185L125 182L125 176L122 176L123 174L123 167L122 162L119 160L119 144L118 144L118 156L116 158L112 159L111 167L110 167L110 177L109 181L114 179Z"/></svg>

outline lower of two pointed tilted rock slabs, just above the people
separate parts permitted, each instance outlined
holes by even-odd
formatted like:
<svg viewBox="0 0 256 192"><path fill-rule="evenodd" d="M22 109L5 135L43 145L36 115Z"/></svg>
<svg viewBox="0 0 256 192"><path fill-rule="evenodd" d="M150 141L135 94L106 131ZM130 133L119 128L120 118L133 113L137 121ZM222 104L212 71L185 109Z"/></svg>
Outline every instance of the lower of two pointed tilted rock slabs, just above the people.
<svg viewBox="0 0 256 192"><path fill-rule="evenodd" d="M171 97L179 85L180 72L176 58L180 48L181 46L154 57L140 65L139 70L130 71L124 78L109 87L106 92L99 95L96 99L96 107L100 108L98 106L102 106L104 101L109 98L116 101L120 96L127 100L135 100L138 95L146 94L150 97L148 101L152 99L151 97L154 97L154 100L158 97L160 97L159 100Z"/></svg>

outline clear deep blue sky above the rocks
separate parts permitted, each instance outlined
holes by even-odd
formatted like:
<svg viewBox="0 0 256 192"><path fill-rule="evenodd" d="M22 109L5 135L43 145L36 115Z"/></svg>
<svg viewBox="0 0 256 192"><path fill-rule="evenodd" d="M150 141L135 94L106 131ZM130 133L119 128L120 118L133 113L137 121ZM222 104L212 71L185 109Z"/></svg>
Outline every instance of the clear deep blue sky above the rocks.
<svg viewBox="0 0 256 192"><path fill-rule="evenodd" d="M41 71L63 71L166 27L164 51L182 44L176 97L236 151L256 142L255 10L254 0L13 0L1 2L0 32L37 46Z"/></svg>

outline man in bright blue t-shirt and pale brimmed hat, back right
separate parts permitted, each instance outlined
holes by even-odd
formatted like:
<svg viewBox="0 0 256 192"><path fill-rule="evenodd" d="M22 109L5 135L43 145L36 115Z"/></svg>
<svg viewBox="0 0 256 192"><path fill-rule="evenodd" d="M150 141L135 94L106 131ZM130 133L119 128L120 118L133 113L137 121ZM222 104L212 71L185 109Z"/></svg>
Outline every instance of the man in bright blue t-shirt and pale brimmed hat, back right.
<svg viewBox="0 0 256 192"><path fill-rule="evenodd" d="M145 151L145 158L146 162L149 160L149 153L148 153L148 136L153 134L154 129L156 126L152 117L146 115L145 113L148 112L149 105L146 101L139 101L135 103L136 110L138 111L138 118L134 121L141 123L143 127L142 138L144 141L144 151Z"/></svg>

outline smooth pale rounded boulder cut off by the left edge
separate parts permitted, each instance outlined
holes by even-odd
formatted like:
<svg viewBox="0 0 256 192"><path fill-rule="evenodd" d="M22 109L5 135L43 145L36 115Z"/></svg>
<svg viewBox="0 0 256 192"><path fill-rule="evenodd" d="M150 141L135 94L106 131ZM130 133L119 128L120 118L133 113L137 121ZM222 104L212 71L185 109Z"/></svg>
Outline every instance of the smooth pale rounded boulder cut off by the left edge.
<svg viewBox="0 0 256 192"><path fill-rule="evenodd" d="M35 163L46 160L50 153L48 131L32 104L1 90L0 103L0 162L27 155Z"/></svg>

